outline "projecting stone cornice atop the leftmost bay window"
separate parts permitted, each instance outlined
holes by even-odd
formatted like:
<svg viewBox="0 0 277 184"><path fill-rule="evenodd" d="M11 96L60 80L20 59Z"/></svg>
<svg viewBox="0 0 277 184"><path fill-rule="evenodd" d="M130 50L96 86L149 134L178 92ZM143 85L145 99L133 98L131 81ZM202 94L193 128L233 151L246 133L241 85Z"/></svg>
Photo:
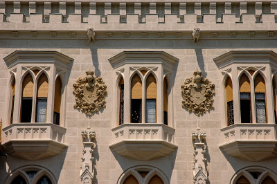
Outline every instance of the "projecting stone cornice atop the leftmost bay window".
<svg viewBox="0 0 277 184"><path fill-rule="evenodd" d="M55 63L60 62L64 67L69 65L73 58L63 55L57 51L30 51L16 50L3 58L8 67L19 63Z"/></svg>

